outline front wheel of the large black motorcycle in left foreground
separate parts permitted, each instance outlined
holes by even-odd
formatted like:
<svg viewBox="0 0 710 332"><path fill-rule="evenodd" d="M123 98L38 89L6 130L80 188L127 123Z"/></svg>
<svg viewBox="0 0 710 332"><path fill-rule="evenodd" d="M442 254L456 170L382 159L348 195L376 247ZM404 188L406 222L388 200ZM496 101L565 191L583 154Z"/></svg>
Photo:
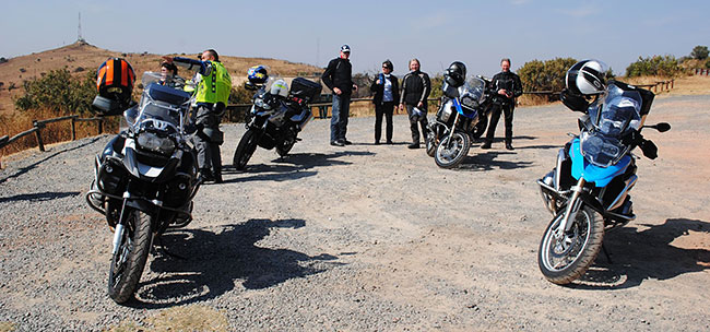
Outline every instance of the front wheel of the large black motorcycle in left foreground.
<svg viewBox="0 0 710 332"><path fill-rule="evenodd" d="M151 217L138 210L126 213L123 236L108 272L108 296L117 304L126 303L133 296L151 249Z"/></svg>

